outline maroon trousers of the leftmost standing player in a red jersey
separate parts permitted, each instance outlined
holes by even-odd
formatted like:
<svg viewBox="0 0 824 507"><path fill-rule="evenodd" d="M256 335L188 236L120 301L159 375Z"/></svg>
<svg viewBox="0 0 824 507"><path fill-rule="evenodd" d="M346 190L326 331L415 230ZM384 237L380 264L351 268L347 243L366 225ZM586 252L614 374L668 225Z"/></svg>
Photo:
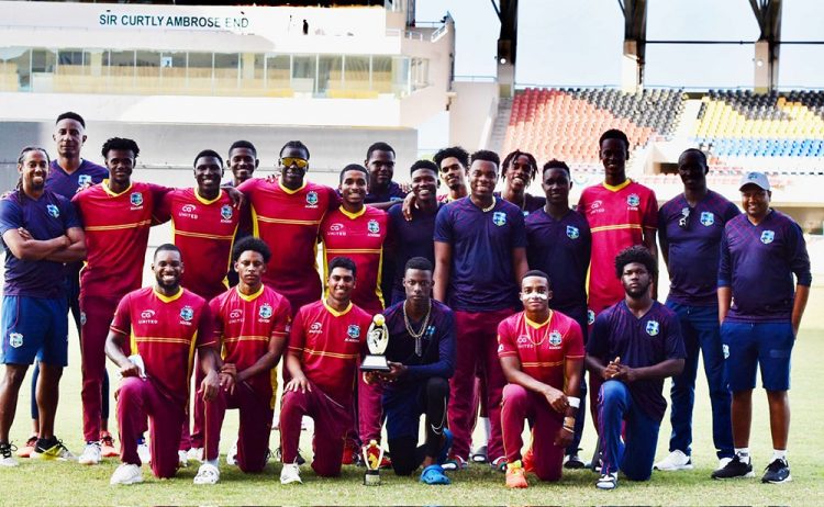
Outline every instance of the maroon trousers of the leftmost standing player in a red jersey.
<svg viewBox="0 0 824 507"><path fill-rule="evenodd" d="M119 301L110 297L80 295L80 361L82 387L80 399L83 415L83 439L100 440L100 417L105 373L105 337Z"/></svg>

